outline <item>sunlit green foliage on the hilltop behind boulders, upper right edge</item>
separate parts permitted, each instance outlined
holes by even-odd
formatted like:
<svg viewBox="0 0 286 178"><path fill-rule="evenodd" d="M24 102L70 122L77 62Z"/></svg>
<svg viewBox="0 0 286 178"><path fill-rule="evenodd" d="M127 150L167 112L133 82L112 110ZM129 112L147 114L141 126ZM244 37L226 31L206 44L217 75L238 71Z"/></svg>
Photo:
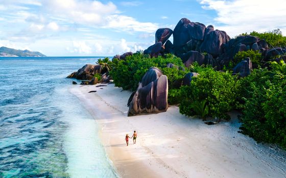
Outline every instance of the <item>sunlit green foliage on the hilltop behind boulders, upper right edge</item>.
<svg viewBox="0 0 286 178"><path fill-rule="evenodd" d="M247 33L242 35L248 35ZM256 36L259 39L265 39L269 47L285 47L286 46L286 37L282 35L280 29L274 29L272 32L251 32L249 35Z"/></svg>

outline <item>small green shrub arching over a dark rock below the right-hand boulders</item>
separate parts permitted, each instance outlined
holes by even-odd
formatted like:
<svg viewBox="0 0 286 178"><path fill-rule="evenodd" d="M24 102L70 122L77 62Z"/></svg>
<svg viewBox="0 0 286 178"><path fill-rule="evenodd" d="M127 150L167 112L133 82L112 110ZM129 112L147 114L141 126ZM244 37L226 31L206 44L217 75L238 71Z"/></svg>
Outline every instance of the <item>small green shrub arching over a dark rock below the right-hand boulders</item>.
<svg viewBox="0 0 286 178"><path fill-rule="evenodd" d="M261 62L261 53L259 51L239 51L235 54L233 57L234 64L240 63L242 60L244 60L246 57L249 57L253 65L259 65Z"/></svg>

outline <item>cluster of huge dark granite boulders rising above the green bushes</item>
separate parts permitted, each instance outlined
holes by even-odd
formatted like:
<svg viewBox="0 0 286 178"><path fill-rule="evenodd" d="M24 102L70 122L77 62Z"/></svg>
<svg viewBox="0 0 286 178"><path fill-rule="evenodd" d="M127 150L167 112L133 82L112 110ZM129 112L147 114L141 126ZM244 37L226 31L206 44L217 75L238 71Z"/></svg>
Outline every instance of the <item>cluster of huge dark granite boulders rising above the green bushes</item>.
<svg viewBox="0 0 286 178"><path fill-rule="evenodd" d="M173 35L173 43L169 38ZM144 50L144 54L151 57L173 53L180 57L186 67L197 62L199 65L211 65L217 70L222 70L233 60L234 55L239 51L254 50L259 51L264 59L270 60L272 56L284 54L286 49L269 49L264 39L255 36L244 35L230 39L226 32L214 29L212 25L207 27L199 22L192 22L187 18L182 18L174 31L170 28L159 28L155 34L155 44ZM251 59L250 59L251 60ZM244 61L249 61L245 59ZM246 72L239 67L249 65L242 62L234 68L235 73L245 76ZM247 66L252 70L252 66ZM242 71L238 71L242 69Z"/></svg>

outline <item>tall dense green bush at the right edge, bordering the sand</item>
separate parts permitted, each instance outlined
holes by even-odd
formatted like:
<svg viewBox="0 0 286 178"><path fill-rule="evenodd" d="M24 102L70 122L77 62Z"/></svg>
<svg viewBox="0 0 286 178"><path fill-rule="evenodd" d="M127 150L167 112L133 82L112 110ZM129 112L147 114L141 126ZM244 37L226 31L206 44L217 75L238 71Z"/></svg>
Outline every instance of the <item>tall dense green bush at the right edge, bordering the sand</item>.
<svg viewBox="0 0 286 178"><path fill-rule="evenodd" d="M245 104L241 129L259 142L286 148L286 67L273 65L271 71L257 69L242 79Z"/></svg>

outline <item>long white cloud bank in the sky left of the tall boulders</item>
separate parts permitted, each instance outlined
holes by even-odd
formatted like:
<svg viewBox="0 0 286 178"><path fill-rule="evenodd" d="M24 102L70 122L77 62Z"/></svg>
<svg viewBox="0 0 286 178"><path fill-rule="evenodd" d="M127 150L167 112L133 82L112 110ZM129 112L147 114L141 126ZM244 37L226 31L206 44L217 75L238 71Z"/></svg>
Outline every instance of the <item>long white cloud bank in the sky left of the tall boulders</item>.
<svg viewBox="0 0 286 178"><path fill-rule="evenodd" d="M138 4L138 2L125 2ZM113 28L125 32L153 33L158 28L151 22L139 22L133 17L118 15L116 6L109 2L103 4L99 1L78 0L45 0L46 10L54 16L69 19L69 22L84 24L93 27Z"/></svg>

